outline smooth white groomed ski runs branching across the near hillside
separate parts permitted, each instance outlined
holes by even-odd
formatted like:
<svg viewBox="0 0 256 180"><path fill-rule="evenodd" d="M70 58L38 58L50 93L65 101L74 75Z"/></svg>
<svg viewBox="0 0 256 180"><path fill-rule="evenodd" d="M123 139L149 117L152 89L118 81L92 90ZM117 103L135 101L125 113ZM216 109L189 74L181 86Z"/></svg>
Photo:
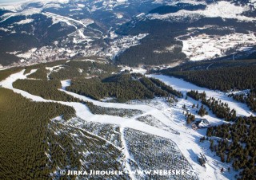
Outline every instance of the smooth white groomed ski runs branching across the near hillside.
<svg viewBox="0 0 256 180"><path fill-rule="evenodd" d="M178 146L179 150L185 156L185 158L190 162L190 165L193 167L193 170L197 174L199 179L233 179L235 174L234 170L228 172L228 167L231 167L231 163L222 163L220 158L215 155L214 152L210 151L210 143L208 141L204 143L200 143L199 139L203 136L206 136L206 129L198 129L194 131L190 126L186 125L186 119L183 115L184 109L182 106L186 104L186 107L190 112L193 113L191 108L192 104L199 104L198 101L192 100L188 97L187 100L185 99L178 99L178 102L174 104L174 106L169 106L166 104L164 100L161 98L155 98L154 100L150 101L133 101L133 104L118 104L118 103L106 103L97 100L91 100L86 96L80 96L73 92L67 92L66 87L70 85L70 80L63 80L62 81L62 89L59 89L62 92L66 92L67 94L79 98L81 100L89 101L94 105L106 108L122 108L122 109L135 109L141 110L143 113L142 115L135 115L132 118L123 118L114 115L94 115L90 112L89 108L86 107L85 104L81 103L73 103L73 102L64 102L64 101L55 101L55 100L45 100L40 96L31 95L28 92L22 91L20 89L14 88L13 83L18 79L27 79L27 76L31 73L36 72L37 70L32 70L29 74L24 75L25 70L21 72L14 73L10 75L6 80L2 80L0 85L2 88L8 88L12 91L21 94L22 96L36 101L36 102L55 102L59 104L65 104L67 106L73 107L76 111L76 115L79 119L83 119L84 123L86 122L95 122L95 123L104 123L104 124L114 124L118 125L122 130L121 133L123 134L124 128L131 128L134 130L142 131L144 133L150 135L156 135L162 138L170 139ZM232 100L230 97L227 96L224 92L215 92L207 88L200 88L194 84L190 84L184 80L170 77L170 76L162 76L162 75L149 75L162 80L164 83L170 85L174 89L181 91L183 94L186 94L187 91L191 89L198 90L198 92L206 92L206 96L210 97L213 96L215 98L219 98L223 102L229 104L230 108L234 108L237 111L238 115L255 115L250 112L249 108L246 107L246 104L238 103ZM153 127L141 121L138 121L138 116L143 115L152 115L154 118L158 119L164 125L170 127L174 131L178 131L179 134L173 133L173 131L165 131L159 127ZM200 118L196 113L194 113L196 118ZM209 115L205 115L204 118L208 119L212 125L218 125L224 123L222 119L216 118L211 112ZM72 119L70 119L72 121ZM79 127L78 127L79 128ZM126 156L126 168L129 170L130 165L127 162L127 159L130 159L129 151L126 149L126 142L122 135L122 144L124 146L124 154ZM106 140L106 142L108 142ZM198 163L197 156L202 153L206 155L206 167L201 166ZM221 173L222 167L224 168L224 172ZM136 179L133 174L130 174L130 177Z"/></svg>

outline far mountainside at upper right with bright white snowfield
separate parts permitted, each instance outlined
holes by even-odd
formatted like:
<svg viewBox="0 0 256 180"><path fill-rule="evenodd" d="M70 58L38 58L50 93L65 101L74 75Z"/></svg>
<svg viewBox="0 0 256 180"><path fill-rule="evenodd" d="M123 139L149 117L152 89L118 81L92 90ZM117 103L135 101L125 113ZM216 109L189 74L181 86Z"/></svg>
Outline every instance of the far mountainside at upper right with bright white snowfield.
<svg viewBox="0 0 256 180"><path fill-rule="evenodd" d="M121 34L150 33L151 36L145 38L142 45L123 53L119 61L136 65L133 62L136 57L136 61L139 59L141 64L155 65L156 61L168 64L184 58L198 61L225 57L242 47L255 45L255 20L255 8L250 2L170 2L118 29ZM166 37L160 41L159 34ZM165 50L171 46L176 48Z"/></svg>

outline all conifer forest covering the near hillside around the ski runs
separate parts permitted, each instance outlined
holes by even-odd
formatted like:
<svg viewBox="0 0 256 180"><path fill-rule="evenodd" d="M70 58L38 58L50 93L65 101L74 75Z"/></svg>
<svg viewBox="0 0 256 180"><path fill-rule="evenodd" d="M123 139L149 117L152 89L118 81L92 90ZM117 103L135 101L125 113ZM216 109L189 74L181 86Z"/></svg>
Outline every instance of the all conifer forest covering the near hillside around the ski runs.
<svg viewBox="0 0 256 180"><path fill-rule="evenodd" d="M55 67L49 70L49 67L52 66ZM82 102L59 91L58 89L62 88L60 80L71 78L70 86L66 87L67 91L88 96L94 100L111 97L114 101L123 103L129 100L149 100L154 97L164 97L165 100L169 99L174 102L183 97L182 92L166 85L161 80L141 74L130 74L127 71L113 75L112 72L118 71L117 67L105 66L98 62L58 61L27 67L24 74L35 68L38 70L27 76L29 79L16 80L13 84L14 88L22 89L35 96L41 96L46 100L81 102L90 109L90 112L97 115L118 115L126 118L141 115L143 112L134 109L104 108L89 102ZM222 68L207 71L170 72L169 75L182 77L195 84L202 83L202 86L207 88L225 92L248 88L250 90L230 93L230 96L234 100L246 103L252 111L255 111L253 69L254 66L240 67L240 70L238 67L233 67L227 70L227 77L222 76L224 73ZM21 70L22 68L11 68L8 71L0 71L0 80L4 80L10 74ZM216 78L217 80L215 80ZM210 111L219 119L226 121L222 125L208 127L206 135L210 140L210 150L215 151L222 162L230 162L234 170L240 170L239 177L241 179L253 179L256 157L255 117L238 117L235 109L230 109L228 104L223 103L222 100L214 97L207 98L206 92L191 90L186 93L186 100L187 96L202 103L201 106L197 107L196 113L198 115L203 117L208 114L207 111ZM55 123L53 120L58 116L61 116L64 121L70 119L75 116L73 108L57 103L32 102L5 88L0 88L0 106L2 107L0 109L0 143L3 144L0 147L1 179L55 178L58 174L53 174L52 177L49 174L58 171L59 168L65 169L66 166L69 166L78 169L82 166L78 159L82 159L79 151L82 151L83 147L78 147L81 148L79 151L78 148L74 150L74 147L77 146L72 143L74 139L62 130L65 129L65 131L72 133L77 131L71 127L63 127L62 123ZM186 109L185 104L182 108ZM194 123L196 120L195 115L189 112L186 112L185 117L187 124ZM86 131L80 132L83 135L86 134ZM85 142L88 142L88 139L85 139ZM102 150L102 153L104 153L103 151L106 150ZM98 156L99 162L102 157L104 158L105 155ZM98 162L95 163L97 163L95 166L106 166L98 164ZM10 171L14 174L7 173Z"/></svg>

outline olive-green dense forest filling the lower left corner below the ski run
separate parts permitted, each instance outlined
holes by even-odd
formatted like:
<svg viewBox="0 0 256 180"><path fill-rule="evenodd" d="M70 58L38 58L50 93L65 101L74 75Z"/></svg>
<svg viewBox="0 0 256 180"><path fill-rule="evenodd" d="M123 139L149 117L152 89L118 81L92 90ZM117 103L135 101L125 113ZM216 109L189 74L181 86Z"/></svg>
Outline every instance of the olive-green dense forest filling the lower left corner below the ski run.
<svg viewBox="0 0 256 180"><path fill-rule="evenodd" d="M73 108L32 102L5 88L0 88L0 107L0 179L49 179L57 166L80 166L68 136L62 136L64 151L54 143L54 132L48 129L54 117L70 119ZM49 148L51 161L46 156Z"/></svg>

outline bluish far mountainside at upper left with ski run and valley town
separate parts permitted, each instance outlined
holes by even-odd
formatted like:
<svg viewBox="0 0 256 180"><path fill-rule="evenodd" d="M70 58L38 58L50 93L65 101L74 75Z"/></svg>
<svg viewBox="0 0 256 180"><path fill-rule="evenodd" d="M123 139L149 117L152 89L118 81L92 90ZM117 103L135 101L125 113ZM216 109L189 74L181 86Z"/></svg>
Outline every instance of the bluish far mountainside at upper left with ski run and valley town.
<svg viewBox="0 0 256 180"><path fill-rule="evenodd" d="M138 45L134 40L137 36L113 36L114 29L155 6L160 5L154 1L119 0L0 4L0 45L4 47L0 64L92 55L114 57L123 47ZM129 41L122 44L123 39ZM36 50L31 53L31 49Z"/></svg>

